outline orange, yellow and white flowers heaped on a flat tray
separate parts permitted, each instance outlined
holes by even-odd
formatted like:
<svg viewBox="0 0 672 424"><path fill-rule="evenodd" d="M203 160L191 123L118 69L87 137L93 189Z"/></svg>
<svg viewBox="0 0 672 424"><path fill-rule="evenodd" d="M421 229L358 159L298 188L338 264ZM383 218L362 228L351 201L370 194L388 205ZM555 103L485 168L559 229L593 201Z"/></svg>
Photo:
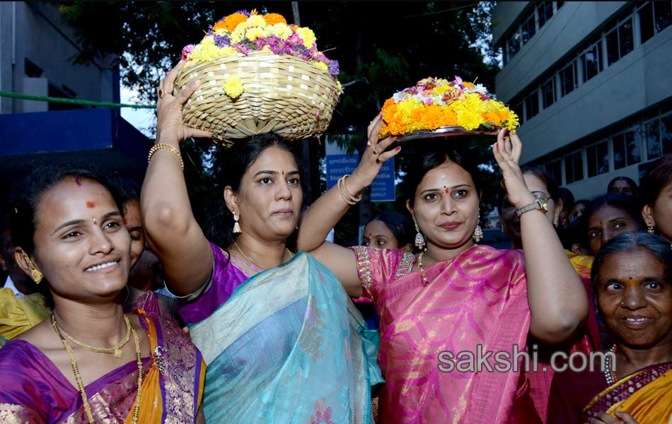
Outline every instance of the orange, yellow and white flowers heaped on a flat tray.
<svg viewBox="0 0 672 424"><path fill-rule="evenodd" d="M518 116L490 98L484 86L459 76L453 81L424 78L386 100L382 112L381 137L449 127L489 134L503 127L514 131L518 126Z"/></svg>

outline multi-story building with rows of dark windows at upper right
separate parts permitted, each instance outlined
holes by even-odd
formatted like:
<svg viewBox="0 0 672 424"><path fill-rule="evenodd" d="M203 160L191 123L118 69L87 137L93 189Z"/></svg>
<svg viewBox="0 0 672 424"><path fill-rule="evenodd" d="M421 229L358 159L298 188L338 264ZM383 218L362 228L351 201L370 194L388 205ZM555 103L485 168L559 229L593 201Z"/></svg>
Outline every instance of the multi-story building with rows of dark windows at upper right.
<svg viewBox="0 0 672 424"><path fill-rule="evenodd" d="M492 20L524 164L581 199L672 153L672 1L502 1Z"/></svg>

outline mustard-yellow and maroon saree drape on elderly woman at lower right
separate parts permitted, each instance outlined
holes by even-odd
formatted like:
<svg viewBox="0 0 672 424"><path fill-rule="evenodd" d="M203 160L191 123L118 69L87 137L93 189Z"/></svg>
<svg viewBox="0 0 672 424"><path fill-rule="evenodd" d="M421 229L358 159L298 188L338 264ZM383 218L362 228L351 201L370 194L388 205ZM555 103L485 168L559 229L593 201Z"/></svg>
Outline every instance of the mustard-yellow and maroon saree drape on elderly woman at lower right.
<svg viewBox="0 0 672 424"><path fill-rule="evenodd" d="M595 396L584 408L584 420L605 412L630 413L639 424L666 424L672 420L672 363L651 365L620 379Z"/></svg>

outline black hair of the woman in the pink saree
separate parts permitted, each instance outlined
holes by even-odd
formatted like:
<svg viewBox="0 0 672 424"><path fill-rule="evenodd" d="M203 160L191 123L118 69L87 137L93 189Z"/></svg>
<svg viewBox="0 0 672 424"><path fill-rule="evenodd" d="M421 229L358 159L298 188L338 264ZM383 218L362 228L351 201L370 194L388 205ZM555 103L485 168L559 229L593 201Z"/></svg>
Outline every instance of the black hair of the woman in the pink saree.
<svg viewBox="0 0 672 424"><path fill-rule="evenodd" d="M418 148L417 155L409 166L409 169L413 172L407 174L407 190L405 192L409 196L411 206L415 201L415 190L427 172L448 161L460 165L463 170L468 172L473 179L477 195L480 196L483 187L481 172L477 167L473 153L470 153L466 148L455 147L452 142L448 141L426 143Z"/></svg>

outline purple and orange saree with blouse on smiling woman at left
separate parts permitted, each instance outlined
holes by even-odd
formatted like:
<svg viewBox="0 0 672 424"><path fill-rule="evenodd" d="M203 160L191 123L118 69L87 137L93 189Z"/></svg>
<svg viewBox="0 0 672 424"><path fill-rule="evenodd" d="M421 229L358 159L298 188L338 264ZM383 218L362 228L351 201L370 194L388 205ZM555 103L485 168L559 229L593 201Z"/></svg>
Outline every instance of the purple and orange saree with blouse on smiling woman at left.
<svg viewBox="0 0 672 424"><path fill-rule="evenodd" d="M143 358L138 423L194 423L205 365L199 351L173 322L139 310L149 334L151 358ZM131 423L137 394L135 360L85 388L96 423ZM88 423L79 390L35 346L10 341L0 350L0 423Z"/></svg>

